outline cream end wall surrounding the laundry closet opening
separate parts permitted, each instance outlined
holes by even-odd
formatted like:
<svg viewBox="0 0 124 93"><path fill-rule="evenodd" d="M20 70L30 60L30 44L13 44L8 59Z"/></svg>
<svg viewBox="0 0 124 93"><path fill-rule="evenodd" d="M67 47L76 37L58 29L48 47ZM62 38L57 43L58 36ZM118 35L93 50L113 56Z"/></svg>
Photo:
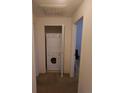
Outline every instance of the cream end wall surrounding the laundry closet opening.
<svg viewBox="0 0 124 93"><path fill-rule="evenodd" d="M64 73L70 73L72 18L70 17L37 17L34 19L36 56L39 73L45 73L45 24L63 24L65 26Z"/></svg>

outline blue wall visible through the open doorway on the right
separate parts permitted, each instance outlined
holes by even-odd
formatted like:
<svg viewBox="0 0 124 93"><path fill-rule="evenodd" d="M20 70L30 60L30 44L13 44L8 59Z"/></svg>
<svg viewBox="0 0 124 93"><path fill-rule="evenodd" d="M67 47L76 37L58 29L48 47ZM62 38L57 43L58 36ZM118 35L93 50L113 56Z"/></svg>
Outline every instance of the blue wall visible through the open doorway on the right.
<svg viewBox="0 0 124 93"><path fill-rule="evenodd" d="M83 19L80 19L76 23L76 49L78 49L78 55L80 55L81 51L81 39L82 39L82 29L83 29Z"/></svg>

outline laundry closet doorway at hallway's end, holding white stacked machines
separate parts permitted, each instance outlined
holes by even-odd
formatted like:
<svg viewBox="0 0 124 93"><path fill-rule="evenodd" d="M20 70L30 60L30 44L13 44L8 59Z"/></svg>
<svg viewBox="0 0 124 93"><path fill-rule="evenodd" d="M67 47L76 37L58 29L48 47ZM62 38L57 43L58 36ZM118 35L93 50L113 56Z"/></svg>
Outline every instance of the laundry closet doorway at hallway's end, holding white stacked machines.
<svg viewBox="0 0 124 93"><path fill-rule="evenodd" d="M64 26L45 26L46 71L60 72L63 76Z"/></svg>

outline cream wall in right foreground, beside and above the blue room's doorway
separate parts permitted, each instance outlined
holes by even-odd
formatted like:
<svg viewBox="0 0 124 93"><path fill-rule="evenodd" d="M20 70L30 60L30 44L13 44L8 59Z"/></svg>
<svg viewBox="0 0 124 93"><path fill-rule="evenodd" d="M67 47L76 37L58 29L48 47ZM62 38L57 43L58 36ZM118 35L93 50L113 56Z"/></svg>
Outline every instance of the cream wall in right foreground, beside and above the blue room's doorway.
<svg viewBox="0 0 124 93"><path fill-rule="evenodd" d="M83 16L83 39L79 72L78 93L92 93L92 2L83 0L73 16L75 23Z"/></svg>

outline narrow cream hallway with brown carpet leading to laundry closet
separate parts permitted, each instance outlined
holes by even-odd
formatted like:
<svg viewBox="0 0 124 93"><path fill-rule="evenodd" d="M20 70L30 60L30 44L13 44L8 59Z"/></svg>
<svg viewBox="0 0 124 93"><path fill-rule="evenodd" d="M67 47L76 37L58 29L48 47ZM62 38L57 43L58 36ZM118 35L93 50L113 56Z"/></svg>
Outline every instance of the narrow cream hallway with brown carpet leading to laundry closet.
<svg viewBox="0 0 124 93"><path fill-rule="evenodd" d="M37 81L34 82L36 85L34 93L91 93L91 0L32 1L33 75L34 80ZM80 24L80 27L83 27L80 31L83 32L79 34L83 35L83 39L80 38L81 47L78 50L81 54L80 60L75 60L78 20L83 22ZM52 29L59 26L61 26L61 30ZM48 35L46 27L50 27L48 32L52 35ZM58 35L60 32L61 35ZM57 34L53 35L53 33ZM60 73L47 73L48 71ZM35 77L37 78L35 79Z"/></svg>

